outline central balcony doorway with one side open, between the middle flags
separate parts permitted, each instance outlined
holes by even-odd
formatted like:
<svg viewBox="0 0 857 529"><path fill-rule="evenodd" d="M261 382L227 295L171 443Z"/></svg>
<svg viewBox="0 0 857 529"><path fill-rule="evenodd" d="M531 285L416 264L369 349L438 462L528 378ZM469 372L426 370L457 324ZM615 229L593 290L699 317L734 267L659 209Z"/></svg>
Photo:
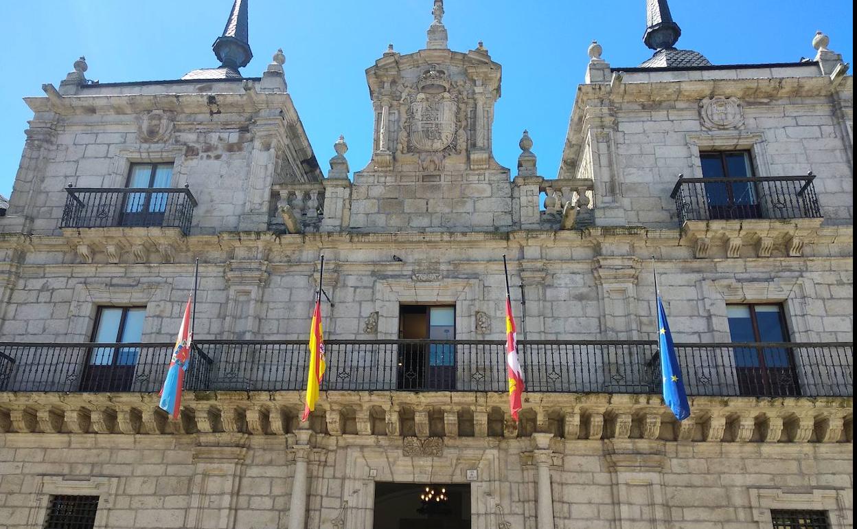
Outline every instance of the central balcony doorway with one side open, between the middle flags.
<svg viewBox="0 0 857 529"><path fill-rule="evenodd" d="M455 307L402 305L399 339L398 389L455 389Z"/></svg>

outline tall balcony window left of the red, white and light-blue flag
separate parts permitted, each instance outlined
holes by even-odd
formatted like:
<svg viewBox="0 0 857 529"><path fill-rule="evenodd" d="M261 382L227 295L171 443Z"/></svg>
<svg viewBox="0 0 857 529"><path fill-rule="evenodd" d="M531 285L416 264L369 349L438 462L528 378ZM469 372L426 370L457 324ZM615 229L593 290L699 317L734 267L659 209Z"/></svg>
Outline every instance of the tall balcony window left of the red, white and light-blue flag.
<svg viewBox="0 0 857 529"><path fill-rule="evenodd" d="M99 307L93 343L135 344L143 336L145 307ZM140 348L93 347L88 352L81 391L128 391Z"/></svg>

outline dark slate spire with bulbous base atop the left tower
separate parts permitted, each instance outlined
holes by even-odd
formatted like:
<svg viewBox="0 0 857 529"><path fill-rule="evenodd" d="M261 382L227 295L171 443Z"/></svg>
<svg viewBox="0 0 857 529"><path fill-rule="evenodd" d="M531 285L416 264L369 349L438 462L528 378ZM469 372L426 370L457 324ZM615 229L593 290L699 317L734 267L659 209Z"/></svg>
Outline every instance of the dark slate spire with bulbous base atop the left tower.
<svg viewBox="0 0 857 529"><path fill-rule="evenodd" d="M212 45L215 57L220 61L218 68L202 68L189 71L183 80L242 79L239 68L247 66L253 58L250 50L248 4L249 0L235 0L223 34Z"/></svg>

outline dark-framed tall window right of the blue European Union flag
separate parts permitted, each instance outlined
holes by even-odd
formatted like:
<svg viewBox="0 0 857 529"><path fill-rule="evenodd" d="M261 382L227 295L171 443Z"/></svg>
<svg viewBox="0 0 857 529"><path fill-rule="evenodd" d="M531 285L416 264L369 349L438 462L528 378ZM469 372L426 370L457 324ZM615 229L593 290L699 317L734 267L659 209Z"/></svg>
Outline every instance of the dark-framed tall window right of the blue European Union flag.
<svg viewBox="0 0 857 529"><path fill-rule="evenodd" d="M727 305L732 343L788 342L788 329L778 304ZM788 347L734 347L741 394L796 396L797 374Z"/></svg>

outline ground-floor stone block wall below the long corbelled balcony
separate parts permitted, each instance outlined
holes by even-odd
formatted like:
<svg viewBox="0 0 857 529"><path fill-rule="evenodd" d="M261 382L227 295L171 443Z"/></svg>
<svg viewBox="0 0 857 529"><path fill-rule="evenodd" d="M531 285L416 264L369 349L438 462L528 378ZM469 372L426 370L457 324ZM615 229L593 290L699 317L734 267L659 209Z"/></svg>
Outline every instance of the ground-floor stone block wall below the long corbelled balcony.
<svg viewBox="0 0 857 529"><path fill-rule="evenodd" d="M375 481L470 484L475 529L535 529L528 439L447 440L442 457L404 455L400 438L320 436L309 462L307 527L369 529ZM294 436L0 435L0 516L34 529L51 494L100 496L97 527L273 529L291 516ZM851 445L554 439L558 529L764 526L770 509L827 510L851 526ZM476 471L467 478L467 471ZM345 507L345 502L347 507ZM500 509L497 507L500 506ZM345 508L344 508L345 507ZM767 516L767 518L766 518Z"/></svg>

